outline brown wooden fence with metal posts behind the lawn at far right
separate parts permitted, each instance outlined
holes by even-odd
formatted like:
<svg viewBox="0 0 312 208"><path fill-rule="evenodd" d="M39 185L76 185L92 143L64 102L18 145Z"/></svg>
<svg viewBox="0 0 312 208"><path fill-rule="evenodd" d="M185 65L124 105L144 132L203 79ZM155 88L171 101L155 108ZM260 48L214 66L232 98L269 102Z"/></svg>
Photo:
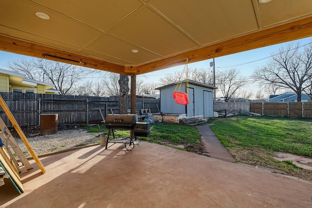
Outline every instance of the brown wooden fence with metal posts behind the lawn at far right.
<svg viewBox="0 0 312 208"><path fill-rule="evenodd" d="M312 118L312 103L250 103L250 112L261 115Z"/></svg>

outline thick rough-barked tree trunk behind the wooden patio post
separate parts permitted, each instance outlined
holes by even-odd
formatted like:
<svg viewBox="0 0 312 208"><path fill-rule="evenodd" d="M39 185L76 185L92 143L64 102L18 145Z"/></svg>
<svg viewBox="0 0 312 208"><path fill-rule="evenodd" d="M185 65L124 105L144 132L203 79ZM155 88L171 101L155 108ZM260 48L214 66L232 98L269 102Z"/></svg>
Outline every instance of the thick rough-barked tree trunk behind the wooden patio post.
<svg viewBox="0 0 312 208"><path fill-rule="evenodd" d="M119 114L127 114L128 111L128 93L129 93L129 77L120 74L119 76Z"/></svg>

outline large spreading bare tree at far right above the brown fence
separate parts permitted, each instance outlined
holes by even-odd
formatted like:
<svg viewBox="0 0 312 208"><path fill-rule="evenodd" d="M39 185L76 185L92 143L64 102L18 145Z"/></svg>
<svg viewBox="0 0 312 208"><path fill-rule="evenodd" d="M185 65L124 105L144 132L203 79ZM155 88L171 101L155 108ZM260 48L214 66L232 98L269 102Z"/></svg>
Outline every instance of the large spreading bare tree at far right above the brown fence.
<svg viewBox="0 0 312 208"><path fill-rule="evenodd" d="M312 47L308 44L300 51L300 44L288 44L272 54L271 61L255 69L253 77L260 85L290 88L301 102L301 93L311 86Z"/></svg>

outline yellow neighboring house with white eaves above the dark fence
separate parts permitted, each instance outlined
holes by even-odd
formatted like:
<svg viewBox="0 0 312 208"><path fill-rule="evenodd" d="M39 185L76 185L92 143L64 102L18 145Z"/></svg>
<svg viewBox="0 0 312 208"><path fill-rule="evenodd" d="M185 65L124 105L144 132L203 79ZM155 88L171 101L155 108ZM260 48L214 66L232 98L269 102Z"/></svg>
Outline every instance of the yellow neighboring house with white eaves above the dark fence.
<svg viewBox="0 0 312 208"><path fill-rule="evenodd" d="M1 92L55 94L58 90L53 87L51 83L27 79L24 74L0 69Z"/></svg>

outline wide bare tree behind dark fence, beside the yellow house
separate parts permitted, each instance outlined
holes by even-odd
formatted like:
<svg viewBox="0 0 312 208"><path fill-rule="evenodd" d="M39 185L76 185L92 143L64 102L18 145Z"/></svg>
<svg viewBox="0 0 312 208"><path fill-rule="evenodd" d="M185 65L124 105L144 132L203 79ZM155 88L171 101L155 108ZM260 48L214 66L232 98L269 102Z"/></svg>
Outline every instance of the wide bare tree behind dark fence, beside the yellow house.
<svg viewBox="0 0 312 208"><path fill-rule="evenodd" d="M6 66L32 80L39 81L42 77L43 82L51 82L61 95L69 94L75 84L92 72L88 68L39 58L32 58L30 61L26 59L12 61Z"/></svg>

